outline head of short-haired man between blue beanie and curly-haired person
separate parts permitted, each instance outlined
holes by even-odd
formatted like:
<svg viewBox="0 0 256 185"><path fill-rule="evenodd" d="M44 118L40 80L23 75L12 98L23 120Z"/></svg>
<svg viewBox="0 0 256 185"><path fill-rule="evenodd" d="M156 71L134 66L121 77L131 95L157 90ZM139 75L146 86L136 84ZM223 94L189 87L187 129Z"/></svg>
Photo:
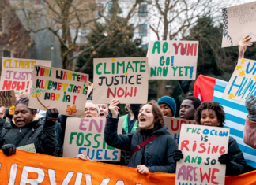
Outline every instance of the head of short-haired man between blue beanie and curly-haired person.
<svg viewBox="0 0 256 185"><path fill-rule="evenodd" d="M194 120L194 113L201 105L200 99L194 96L187 96L180 105L179 117L185 120Z"/></svg>

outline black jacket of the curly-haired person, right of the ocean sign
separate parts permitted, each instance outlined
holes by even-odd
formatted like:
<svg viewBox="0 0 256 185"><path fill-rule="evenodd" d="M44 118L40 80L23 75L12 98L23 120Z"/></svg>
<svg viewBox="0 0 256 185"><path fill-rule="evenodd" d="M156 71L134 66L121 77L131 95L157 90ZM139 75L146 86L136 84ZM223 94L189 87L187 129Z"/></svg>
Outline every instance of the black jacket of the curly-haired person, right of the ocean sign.
<svg viewBox="0 0 256 185"><path fill-rule="evenodd" d="M228 154L232 158L231 164L227 165L226 176L238 176L245 172L247 163L243 158L243 153L239 149L234 138L229 136Z"/></svg>

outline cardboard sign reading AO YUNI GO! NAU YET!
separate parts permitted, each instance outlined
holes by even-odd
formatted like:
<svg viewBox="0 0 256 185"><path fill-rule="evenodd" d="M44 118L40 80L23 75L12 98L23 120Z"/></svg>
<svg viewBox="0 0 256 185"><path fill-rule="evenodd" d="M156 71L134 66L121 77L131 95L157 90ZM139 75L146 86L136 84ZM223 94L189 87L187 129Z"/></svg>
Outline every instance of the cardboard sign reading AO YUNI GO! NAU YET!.
<svg viewBox="0 0 256 185"><path fill-rule="evenodd" d="M149 80L195 80L198 41L151 41Z"/></svg>

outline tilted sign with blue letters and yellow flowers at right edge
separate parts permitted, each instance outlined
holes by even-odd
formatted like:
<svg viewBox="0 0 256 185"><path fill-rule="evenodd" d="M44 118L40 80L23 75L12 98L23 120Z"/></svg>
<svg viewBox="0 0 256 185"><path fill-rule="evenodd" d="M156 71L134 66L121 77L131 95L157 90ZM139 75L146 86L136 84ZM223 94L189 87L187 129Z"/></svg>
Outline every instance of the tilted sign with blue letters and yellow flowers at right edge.
<svg viewBox="0 0 256 185"><path fill-rule="evenodd" d="M256 91L256 61L242 58L225 88L223 98L245 102Z"/></svg>

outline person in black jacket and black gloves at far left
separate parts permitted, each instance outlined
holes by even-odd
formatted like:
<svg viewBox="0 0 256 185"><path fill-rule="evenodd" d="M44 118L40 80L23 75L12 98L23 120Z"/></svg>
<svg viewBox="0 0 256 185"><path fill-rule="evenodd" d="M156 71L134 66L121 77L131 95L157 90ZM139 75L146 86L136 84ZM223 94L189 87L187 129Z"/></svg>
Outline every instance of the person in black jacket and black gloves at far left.
<svg viewBox="0 0 256 185"><path fill-rule="evenodd" d="M0 147L7 156L15 154L16 147L34 144L36 153L55 155L58 142L55 134L57 109L48 109L46 118L33 120L35 109L28 108L29 100L21 98L16 102L13 121L5 122L0 131Z"/></svg>

